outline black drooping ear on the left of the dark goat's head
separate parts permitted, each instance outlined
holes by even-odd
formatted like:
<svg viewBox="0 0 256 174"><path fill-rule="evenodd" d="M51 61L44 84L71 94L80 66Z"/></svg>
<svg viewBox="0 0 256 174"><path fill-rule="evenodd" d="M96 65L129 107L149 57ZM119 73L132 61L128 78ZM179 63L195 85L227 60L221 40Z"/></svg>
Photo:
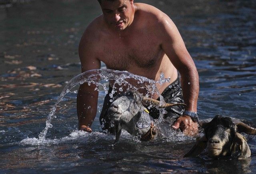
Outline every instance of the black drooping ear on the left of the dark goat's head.
<svg viewBox="0 0 256 174"><path fill-rule="evenodd" d="M194 157L199 155L207 146L207 139L205 136L199 138L196 144L183 157Z"/></svg>

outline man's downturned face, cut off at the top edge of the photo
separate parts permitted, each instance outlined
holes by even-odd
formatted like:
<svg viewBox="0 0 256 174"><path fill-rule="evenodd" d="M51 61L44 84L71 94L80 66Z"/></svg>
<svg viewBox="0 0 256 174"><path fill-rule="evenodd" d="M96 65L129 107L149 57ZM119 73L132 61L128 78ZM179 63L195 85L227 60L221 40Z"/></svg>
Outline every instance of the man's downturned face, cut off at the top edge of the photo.
<svg viewBox="0 0 256 174"><path fill-rule="evenodd" d="M102 0L102 12L105 21L111 28L124 30L132 23L134 17L133 0Z"/></svg>

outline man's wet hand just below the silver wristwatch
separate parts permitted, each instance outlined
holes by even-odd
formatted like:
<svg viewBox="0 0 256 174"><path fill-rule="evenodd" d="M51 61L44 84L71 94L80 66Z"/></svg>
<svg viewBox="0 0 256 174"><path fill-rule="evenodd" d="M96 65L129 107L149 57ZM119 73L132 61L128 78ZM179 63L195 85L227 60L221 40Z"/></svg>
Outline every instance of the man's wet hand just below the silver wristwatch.
<svg viewBox="0 0 256 174"><path fill-rule="evenodd" d="M198 133L198 125L188 115L182 115L172 125L173 129L179 129L188 136L195 136Z"/></svg>

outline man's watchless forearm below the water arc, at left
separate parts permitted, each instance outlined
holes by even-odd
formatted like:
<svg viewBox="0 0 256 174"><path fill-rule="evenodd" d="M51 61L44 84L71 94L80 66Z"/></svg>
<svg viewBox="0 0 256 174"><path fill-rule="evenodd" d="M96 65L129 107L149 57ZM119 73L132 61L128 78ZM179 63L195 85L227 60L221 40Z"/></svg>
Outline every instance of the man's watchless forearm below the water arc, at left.
<svg viewBox="0 0 256 174"><path fill-rule="evenodd" d="M78 129L81 126L91 127L97 113L98 91L83 91L80 87L77 94Z"/></svg>

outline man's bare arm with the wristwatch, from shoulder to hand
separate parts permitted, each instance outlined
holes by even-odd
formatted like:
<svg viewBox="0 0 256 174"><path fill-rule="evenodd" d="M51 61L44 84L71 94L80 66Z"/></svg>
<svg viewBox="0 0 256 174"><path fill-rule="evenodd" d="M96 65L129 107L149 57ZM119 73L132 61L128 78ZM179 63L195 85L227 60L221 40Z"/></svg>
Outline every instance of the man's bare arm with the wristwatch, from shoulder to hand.
<svg viewBox="0 0 256 174"><path fill-rule="evenodd" d="M197 100L199 93L199 78L196 66L172 20L165 15L161 20L163 30L162 49L170 58L172 64L180 72L182 83L182 94L186 103L186 111L197 111ZM180 116L172 126L180 128L184 134L193 135L197 133L198 125L192 119L183 115Z"/></svg>

